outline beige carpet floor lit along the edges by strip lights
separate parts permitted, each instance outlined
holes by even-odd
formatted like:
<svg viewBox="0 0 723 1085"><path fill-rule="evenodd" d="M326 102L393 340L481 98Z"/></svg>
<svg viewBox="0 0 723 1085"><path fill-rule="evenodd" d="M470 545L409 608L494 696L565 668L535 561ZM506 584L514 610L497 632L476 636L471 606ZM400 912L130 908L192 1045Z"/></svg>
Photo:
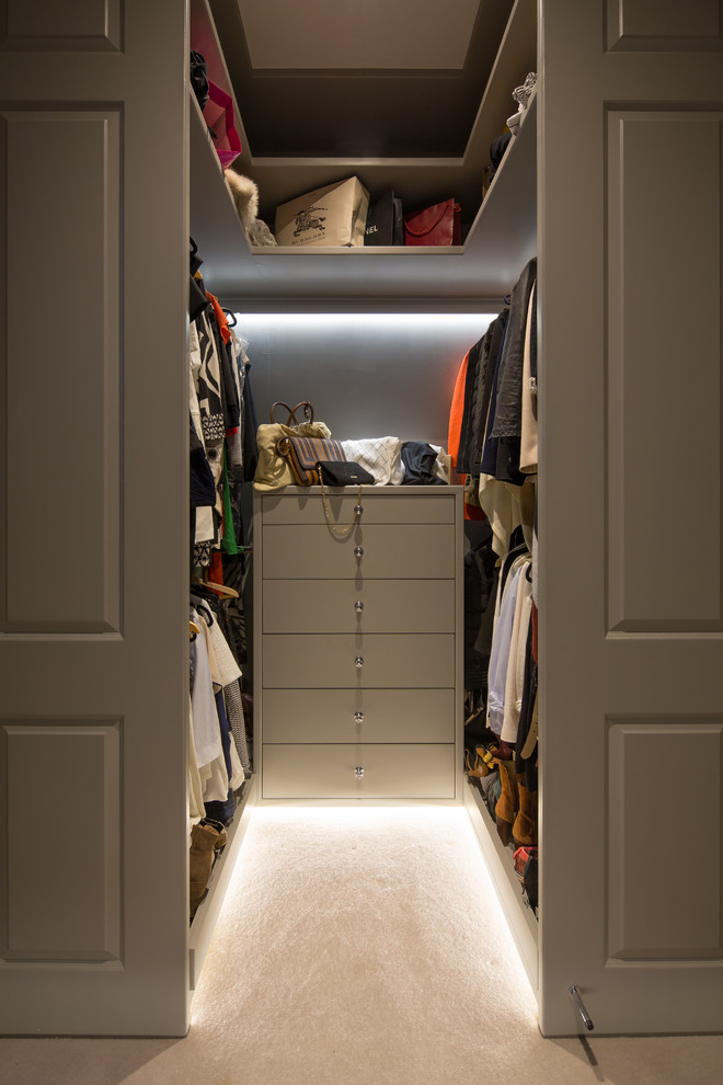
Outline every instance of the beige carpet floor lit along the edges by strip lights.
<svg viewBox="0 0 723 1085"><path fill-rule="evenodd" d="M4 1085L713 1085L723 1037L543 1040L462 810L256 811L184 1040L0 1041Z"/></svg>

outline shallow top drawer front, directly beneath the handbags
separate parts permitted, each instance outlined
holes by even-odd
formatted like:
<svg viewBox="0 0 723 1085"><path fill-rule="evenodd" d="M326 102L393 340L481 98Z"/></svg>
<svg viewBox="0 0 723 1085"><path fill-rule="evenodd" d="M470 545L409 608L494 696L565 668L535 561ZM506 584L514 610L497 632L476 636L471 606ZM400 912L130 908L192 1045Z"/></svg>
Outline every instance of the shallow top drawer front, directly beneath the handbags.
<svg viewBox="0 0 723 1085"><path fill-rule="evenodd" d="M451 524L455 519L455 490L432 487L423 493L400 492L398 487L375 492L370 487L362 490L362 518L367 524ZM343 492L326 490L329 507L336 524L348 524L357 503L358 489ZM262 516L266 524L324 525L324 506L319 487L285 490L283 493L264 494Z"/></svg>

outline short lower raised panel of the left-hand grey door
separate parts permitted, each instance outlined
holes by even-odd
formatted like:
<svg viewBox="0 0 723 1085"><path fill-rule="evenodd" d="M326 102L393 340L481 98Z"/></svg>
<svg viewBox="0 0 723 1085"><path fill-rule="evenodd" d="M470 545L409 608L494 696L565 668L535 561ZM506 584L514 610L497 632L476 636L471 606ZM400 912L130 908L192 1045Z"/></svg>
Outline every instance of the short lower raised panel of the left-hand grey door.
<svg viewBox="0 0 723 1085"><path fill-rule="evenodd" d="M14 967L120 962L122 733L122 720L0 724L1 955Z"/></svg>

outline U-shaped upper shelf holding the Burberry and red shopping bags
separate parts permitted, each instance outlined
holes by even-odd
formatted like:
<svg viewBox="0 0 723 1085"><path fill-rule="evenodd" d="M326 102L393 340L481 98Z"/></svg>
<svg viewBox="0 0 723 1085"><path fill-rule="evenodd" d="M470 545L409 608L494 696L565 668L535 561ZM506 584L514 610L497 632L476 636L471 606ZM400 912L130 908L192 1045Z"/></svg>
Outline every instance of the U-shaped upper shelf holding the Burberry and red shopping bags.
<svg viewBox="0 0 723 1085"><path fill-rule="evenodd" d="M535 0L517 0L461 159L254 159L237 112L243 153L236 169L256 182L264 205L352 175L372 196L394 187L406 207L454 195L462 204L463 221L471 221L459 248L252 250L192 94L191 232L210 288L241 309L319 308L325 301L387 308L498 301L537 249L535 99L480 206L482 176L490 144L514 112L513 88L537 68L536 19ZM192 3L191 31L192 47L204 53L210 78L231 91L206 0ZM273 229L273 219L269 225Z"/></svg>

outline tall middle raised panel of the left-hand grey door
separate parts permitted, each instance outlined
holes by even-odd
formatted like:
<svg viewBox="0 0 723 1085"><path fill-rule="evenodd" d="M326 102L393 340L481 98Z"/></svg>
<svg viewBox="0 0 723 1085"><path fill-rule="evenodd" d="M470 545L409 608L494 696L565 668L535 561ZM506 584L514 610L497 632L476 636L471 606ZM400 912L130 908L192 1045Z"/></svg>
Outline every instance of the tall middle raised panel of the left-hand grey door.
<svg viewBox="0 0 723 1085"><path fill-rule="evenodd" d="M3 632L122 627L122 134L114 107L0 113ZM37 335L51 358L43 374L30 364Z"/></svg>

